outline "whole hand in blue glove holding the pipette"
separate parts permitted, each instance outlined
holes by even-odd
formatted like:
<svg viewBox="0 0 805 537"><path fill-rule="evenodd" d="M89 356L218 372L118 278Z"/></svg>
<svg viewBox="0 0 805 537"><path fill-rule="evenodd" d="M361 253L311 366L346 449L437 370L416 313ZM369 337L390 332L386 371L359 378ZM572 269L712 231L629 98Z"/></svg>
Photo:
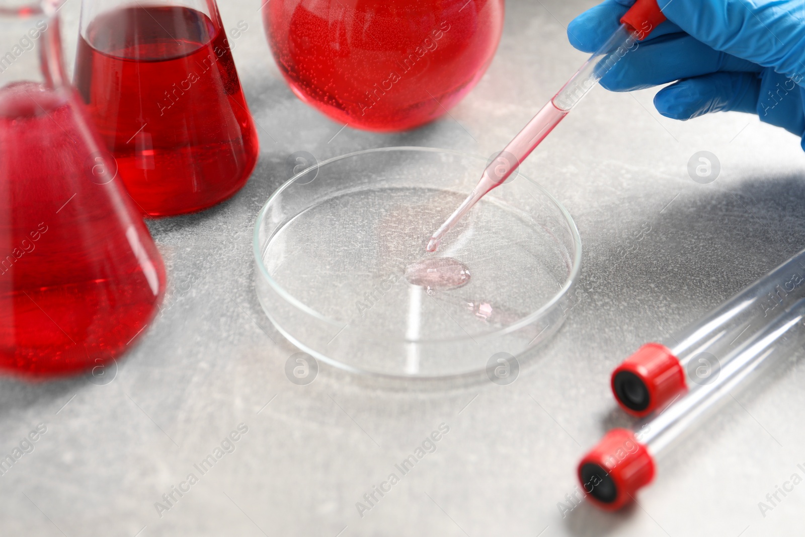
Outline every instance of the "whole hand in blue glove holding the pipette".
<svg viewBox="0 0 805 537"><path fill-rule="evenodd" d="M595 52L634 0L605 0L568 26ZM603 79L613 91L675 82L654 97L667 118L737 110L805 134L805 0L659 0L667 17ZM805 149L805 139L802 143Z"/></svg>

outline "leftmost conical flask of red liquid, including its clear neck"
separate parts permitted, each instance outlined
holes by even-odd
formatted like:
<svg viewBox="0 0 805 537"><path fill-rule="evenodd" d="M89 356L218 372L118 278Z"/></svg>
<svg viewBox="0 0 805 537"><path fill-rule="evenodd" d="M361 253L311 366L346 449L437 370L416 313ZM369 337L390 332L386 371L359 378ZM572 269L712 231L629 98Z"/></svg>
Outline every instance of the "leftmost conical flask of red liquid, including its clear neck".
<svg viewBox="0 0 805 537"><path fill-rule="evenodd" d="M0 0L0 371L98 372L155 316L165 270L65 80L52 2Z"/></svg>

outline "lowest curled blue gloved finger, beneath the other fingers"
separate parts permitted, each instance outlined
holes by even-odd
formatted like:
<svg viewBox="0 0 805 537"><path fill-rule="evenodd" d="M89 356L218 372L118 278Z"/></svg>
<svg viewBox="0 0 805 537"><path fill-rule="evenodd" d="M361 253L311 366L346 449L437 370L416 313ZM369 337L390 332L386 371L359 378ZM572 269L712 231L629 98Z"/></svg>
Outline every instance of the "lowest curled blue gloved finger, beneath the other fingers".
<svg viewBox="0 0 805 537"><path fill-rule="evenodd" d="M760 77L748 72L714 72L667 86L654 96L666 118L687 121L711 112L736 110L755 114Z"/></svg>

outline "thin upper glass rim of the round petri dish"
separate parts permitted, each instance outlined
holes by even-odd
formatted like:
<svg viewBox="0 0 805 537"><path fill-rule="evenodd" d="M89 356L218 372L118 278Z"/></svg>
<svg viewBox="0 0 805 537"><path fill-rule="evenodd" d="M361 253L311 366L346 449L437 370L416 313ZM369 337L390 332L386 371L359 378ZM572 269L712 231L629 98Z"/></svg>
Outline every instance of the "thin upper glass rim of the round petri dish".
<svg viewBox="0 0 805 537"><path fill-rule="evenodd" d="M353 157L356 157L356 156L359 156L359 155L368 155L368 154L372 154L372 153L383 153L383 152L391 152L391 151L411 151L411 152L423 151L423 152L427 152L427 153L437 153L437 154L440 153L440 154L456 155L458 157L463 157L463 158L466 158L466 159L477 160L477 161L479 161L479 163L484 163L484 164L486 163L486 159L484 159L484 158L482 158L482 157L480 157L478 155L469 155L468 153L464 153L462 151L454 151L452 149L440 149L438 147L417 147L417 146L376 147L374 149L365 149L365 150L361 150L361 151L353 151L352 153L346 153L345 155L338 155L336 157L332 157L330 159L323 160L320 163L317 163L317 164L314 164L311 167L305 168L303 171L299 171L299 173L297 173L295 176L291 177L291 179L289 179L285 183L283 183L279 188L277 188L275 190L275 192L273 192L269 196L268 200L266 200L266 203L262 206L262 209L260 209L260 212L258 213L258 216L257 216L257 218L255 220L254 233L252 235L252 251L253 251L253 254L254 254L254 261L256 262L256 264L258 266L258 269L260 271L260 277L262 277L262 279L264 279L270 285L270 287L272 287L274 289L274 291L278 295L283 297L283 299L287 300L287 302L289 304L291 304L295 308L298 308L299 310L301 310L302 312L308 314L309 316L312 316L312 317L314 317L314 318L316 318L318 320L321 320L321 321L323 321L325 323L331 324L332 326L341 327L341 326L344 325L344 323L339 321L339 320L330 319L328 316L324 316L320 312L317 312L315 309L313 309L310 306L308 306L307 304L304 304L301 300L297 299L295 296L291 295L291 293L286 291L281 285L279 285L279 283L277 283L275 281L275 279L273 279L271 277L271 275L269 274L268 270L266 269L265 264L262 261L262 246L260 244L260 229L261 229L261 226L262 226L262 221L265 219L266 213L268 212L268 209L270 208L272 202L277 197L281 196L283 194L283 192L285 190L287 190L287 188L291 188L291 185L294 184L295 180L299 179L300 176L306 175L309 171L324 167L324 166L326 166L326 165L328 165L330 163L334 163L334 162L337 162L339 160L349 159L349 158L353 158ZM545 196L547 196L547 199L551 201L551 203L554 205L555 209L558 209L559 213L561 213L562 216L564 217L565 224L568 225L568 229L570 229L570 232L571 232L572 238L573 238L573 250L574 251L573 251L573 255L572 255L572 264L571 264L570 271L568 273L568 277L564 280L564 283L562 284L562 287L559 289L559 291L556 292L555 295L553 295L551 297L550 300L548 300L545 304L543 304L539 309L535 310L535 312L531 312L527 316L522 317L522 319L520 319L520 320L518 320L518 321L516 321L516 322L514 322L512 324L507 325L506 327L500 328L499 330L495 330L495 331L489 332L489 333L483 333L483 334L475 335L475 338L478 338L478 339L501 337L501 336L504 336L504 335L506 335L508 333L515 332L518 329L523 328L523 327L535 322L535 320L538 320L541 316L543 316L545 314L545 312L548 312L549 310L554 308L557 303L559 303L559 300L561 300L562 297L565 294L567 294L567 292L573 286L573 283L576 282L576 279L578 279L580 271L581 271L581 249L582 249L581 236L579 234L579 229L576 227L576 222L573 220L573 217L568 212L568 209L565 209L564 205L559 200L557 200L553 196L553 194L551 194L551 192L548 192L545 188L543 188L542 185L537 183L535 180L531 180L529 177L524 176L522 173L518 175L518 178L522 178L524 180L527 180L532 186L534 186L541 193L543 193ZM310 209L310 207L305 209L305 211L307 211L308 209ZM299 217L299 215L304 213L305 211L295 215L294 218ZM293 220L293 218L291 218L291 220ZM267 244L268 244L268 242L266 242L266 245ZM275 324L273 319L270 319L270 320L272 321L272 324ZM279 329L279 327L277 327L277 328ZM283 332L283 335L285 335L284 331L281 331L281 332ZM285 336L287 337L287 335L285 335ZM451 337L451 338L445 338L445 339L439 339L439 340L417 340L416 342L418 342L418 343L445 342L446 343L446 342L450 342L450 341L466 341L468 339L473 339L473 336L468 335L466 337L463 337L463 336L462 337ZM401 340L398 340L398 341L403 341L403 342L406 342L406 343L411 342L411 341L408 341L407 339L401 339Z"/></svg>

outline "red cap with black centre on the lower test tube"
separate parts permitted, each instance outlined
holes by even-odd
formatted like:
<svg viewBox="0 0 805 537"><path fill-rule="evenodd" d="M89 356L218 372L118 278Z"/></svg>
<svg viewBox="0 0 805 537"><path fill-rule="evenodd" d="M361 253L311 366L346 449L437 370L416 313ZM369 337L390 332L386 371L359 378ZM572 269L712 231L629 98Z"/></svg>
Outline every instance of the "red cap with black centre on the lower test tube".
<svg viewBox="0 0 805 537"><path fill-rule="evenodd" d="M613 429L579 463L579 481L593 505L618 510L654 479L654 457L634 432Z"/></svg>

